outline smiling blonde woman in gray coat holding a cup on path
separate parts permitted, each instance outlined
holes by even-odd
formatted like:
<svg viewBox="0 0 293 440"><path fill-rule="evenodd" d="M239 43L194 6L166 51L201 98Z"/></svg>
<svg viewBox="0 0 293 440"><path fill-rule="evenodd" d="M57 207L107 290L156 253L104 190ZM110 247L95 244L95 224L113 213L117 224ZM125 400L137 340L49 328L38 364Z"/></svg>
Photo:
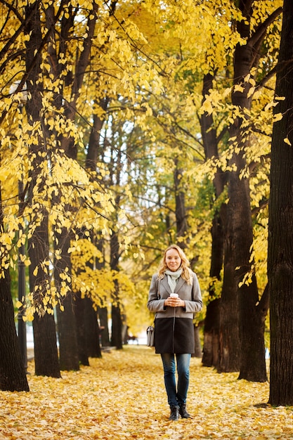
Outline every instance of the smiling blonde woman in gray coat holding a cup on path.
<svg viewBox="0 0 293 440"><path fill-rule="evenodd" d="M193 315L202 310L197 276L177 245L165 250L158 273L152 276L148 309L155 315L155 352L161 354L164 383L170 406L169 420L189 418L186 397L189 364L195 351ZM176 389L175 358L178 385Z"/></svg>

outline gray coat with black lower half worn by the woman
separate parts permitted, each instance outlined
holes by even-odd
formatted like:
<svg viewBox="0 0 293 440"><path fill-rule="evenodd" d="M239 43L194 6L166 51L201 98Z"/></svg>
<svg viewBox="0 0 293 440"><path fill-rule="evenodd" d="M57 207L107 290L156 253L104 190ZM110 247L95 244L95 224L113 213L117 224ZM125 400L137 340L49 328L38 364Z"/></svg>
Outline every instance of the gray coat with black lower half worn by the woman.
<svg viewBox="0 0 293 440"><path fill-rule="evenodd" d="M175 293L185 301L185 307L164 306L171 288L167 275L158 280L152 276L148 296L148 309L155 312L156 353L194 353L194 314L202 310L202 295L197 276L193 272L193 283L188 285L178 278Z"/></svg>

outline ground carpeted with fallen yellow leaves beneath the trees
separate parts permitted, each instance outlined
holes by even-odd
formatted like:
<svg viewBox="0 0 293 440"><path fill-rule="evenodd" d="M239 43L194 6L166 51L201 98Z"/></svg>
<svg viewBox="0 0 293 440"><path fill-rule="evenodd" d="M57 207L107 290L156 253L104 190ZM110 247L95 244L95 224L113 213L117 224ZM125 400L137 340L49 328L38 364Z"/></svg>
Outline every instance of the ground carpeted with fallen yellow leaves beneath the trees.
<svg viewBox="0 0 293 440"><path fill-rule="evenodd" d="M293 408L257 408L268 383L237 380L191 359L188 411L169 422L162 365L148 347L113 349L62 379L34 376L30 392L0 392L0 439L293 439Z"/></svg>

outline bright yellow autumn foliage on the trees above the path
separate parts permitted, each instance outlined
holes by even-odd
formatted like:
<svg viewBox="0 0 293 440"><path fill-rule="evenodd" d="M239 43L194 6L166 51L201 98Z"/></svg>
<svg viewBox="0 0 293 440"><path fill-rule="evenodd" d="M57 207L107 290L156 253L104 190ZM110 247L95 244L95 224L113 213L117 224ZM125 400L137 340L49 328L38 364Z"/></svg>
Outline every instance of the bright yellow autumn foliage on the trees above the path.
<svg viewBox="0 0 293 440"><path fill-rule="evenodd" d="M80 91L77 92L68 83L70 77L75 75L77 56L84 50L84 39L89 32L87 18L93 18L92 2L70 1L63 6L62 19L70 17L71 6L73 10L76 8L78 16L72 27L70 45L66 53L60 53L57 60L60 77L53 73L46 44L41 51L40 82L44 82L44 93L41 97L41 115L44 118L42 124L35 123L30 127L25 110L20 105L21 91L13 94L9 92L11 82L21 79L25 69L24 60L19 58L20 62L15 63L15 53L25 52L25 41L30 39L30 35L18 35L11 51L4 54L3 62L8 64L1 74L3 89L0 109L4 115L5 112L7 114L1 124L0 181L5 232L1 234L0 248L1 254L6 257L1 264L2 268L9 266L9 253L17 250L15 237L18 231L22 228L24 230L17 241L17 245L20 245L20 242L32 237L44 216L48 216L50 245L53 248L52 265L53 258L55 261L62 259L57 235L63 228L67 228L72 235L78 235L78 238L72 240L68 250L72 257L72 274L61 274L63 283L60 292L56 292L52 285L46 285L46 291L39 295L40 304L41 299L44 304L58 304L60 297L70 292L67 284L72 282L74 290L80 290L82 295L90 295L98 306L111 299L116 292L115 283L118 283L120 300L132 317L136 315L134 304L138 306L147 295L145 278L150 277L158 255L167 242L176 240L175 203L171 188L175 160L183 167L180 186L184 190L188 206L190 257L195 257L195 254L200 257L196 270L200 273L203 291L208 290L211 245L209 227L213 208L205 207L199 213L200 210L195 205L200 199L199 188L204 179L208 177L212 181L219 169L223 172L235 171L235 165L231 167L230 159L234 153L240 153L240 149L237 139L230 139L229 143L226 139L219 143L219 157L204 161L200 125L196 115L212 115L218 134L225 131L229 124L233 124L237 117L241 117L243 137L249 142L245 150L247 165L241 170L240 177L250 179L252 209L259 209L263 199L268 197L269 163L264 158L270 149L268 139L272 124L282 115L273 116L274 79L267 84L266 89L260 89L254 78L258 75L261 77L263 66L270 66L272 60L274 62L278 32L272 32L267 39L268 53L261 58L259 68L249 73L243 83L233 89L229 60L233 58L237 44L247 43L235 32L235 22L242 20L235 2L179 0L162 4L160 0L122 1L117 3L114 15L110 14L107 2L98 0L96 3L98 19L91 47L91 68L86 68ZM252 30L281 4L280 0L254 2ZM18 14L23 13L24 5L25 2L18 4ZM46 8L51 5L57 13L58 4L46 1L41 4L44 8L41 10L43 23L46 22ZM5 7L1 6L4 14L0 18L3 41L20 27L20 20L13 13L13 8L5 22L5 13L8 11ZM280 27L280 20L273 26ZM43 34L46 31L43 27ZM58 34L59 29L52 45L56 45L57 52L60 52ZM202 102L202 76L207 73L214 75L214 72L214 84ZM247 87L252 108L242 113L239 108L231 105L230 98L232 91L243 92ZM69 103L76 110L75 119L67 117L65 106L56 108L54 93L62 97L63 103ZM74 101L72 97L78 93L79 96ZM107 110L100 105L105 98L110 100ZM108 111L114 120L124 121L127 126L134 124L141 129L142 134L138 136L137 145L143 142L143 154L141 157L135 156L134 163L136 157L139 161L145 160L145 157L152 158L150 166L145 166L148 173L143 177L140 174L138 183L131 183L131 186L109 188L112 175L110 167L106 169L103 163L98 163L98 172L91 175L81 166L86 155L93 114L103 121ZM107 127L104 125L101 134L105 135L107 141L106 131ZM64 138L70 139L79 148L78 160L70 159L60 150L60 139ZM287 138L284 141L288 143ZM132 142L130 138L127 148L136 147ZM32 154L30 150L34 143L40 143L41 147L36 154ZM127 150L125 162L131 162L131 154ZM41 163L38 176L34 180L35 164L39 163L37 159ZM129 170L124 168L122 174L127 172ZM131 172L128 178L133 179ZM140 179L148 182L141 185ZM21 213L17 197L18 181L22 181L25 188L30 188L32 193L31 202L25 205ZM155 193L157 188L162 194ZM124 195L121 206L123 205L127 214L115 204L115 196L119 192ZM137 202L136 192L139 194L138 199L143 202ZM144 198L150 200L146 202ZM160 200L155 200L159 198ZM254 226L256 245L261 243L261 229L267 229L267 216L266 208L261 209L257 216L257 223L263 226ZM168 231L166 219L171 225ZM83 240L79 240L80 231L84 231ZM112 231L118 231L125 257L119 273L113 273L109 269L109 252L103 261L103 255L91 244L92 233L99 233L105 240L109 240ZM266 238L266 234L263 237ZM253 254L261 285L266 273L265 245L266 240L263 240ZM136 260L136 264L132 264L132 258ZM97 268L97 263L105 264L103 270ZM30 260L25 259L25 264L30 264ZM126 271L129 266L130 274ZM34 268L34 276L38 275L40 268L51 276L52 267L48 261L40 262ZM51 296L51 301L48 296ZM131 301L133 297L136 298L135 302ZM35 297L33 299L29 295L28 318L33 316L36 309L41 313L34 301ZM51 309L47 308L48 310ZM131 325L135 323L131 321Z"/></svg>

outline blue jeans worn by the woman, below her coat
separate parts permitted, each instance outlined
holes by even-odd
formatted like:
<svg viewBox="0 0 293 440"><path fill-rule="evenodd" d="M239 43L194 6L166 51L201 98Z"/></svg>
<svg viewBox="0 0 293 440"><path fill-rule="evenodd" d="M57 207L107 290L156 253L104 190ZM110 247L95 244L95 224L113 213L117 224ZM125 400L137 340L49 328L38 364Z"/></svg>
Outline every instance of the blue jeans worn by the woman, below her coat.
<svg viewBox="0 0 293 440"><path fill-rule="evenodd" d="M175 356L177 361L178 385L176 390ZM164 367L164 382L170 406L181 406L186 403L189 385L190 353L161 354Z"/></svg>

